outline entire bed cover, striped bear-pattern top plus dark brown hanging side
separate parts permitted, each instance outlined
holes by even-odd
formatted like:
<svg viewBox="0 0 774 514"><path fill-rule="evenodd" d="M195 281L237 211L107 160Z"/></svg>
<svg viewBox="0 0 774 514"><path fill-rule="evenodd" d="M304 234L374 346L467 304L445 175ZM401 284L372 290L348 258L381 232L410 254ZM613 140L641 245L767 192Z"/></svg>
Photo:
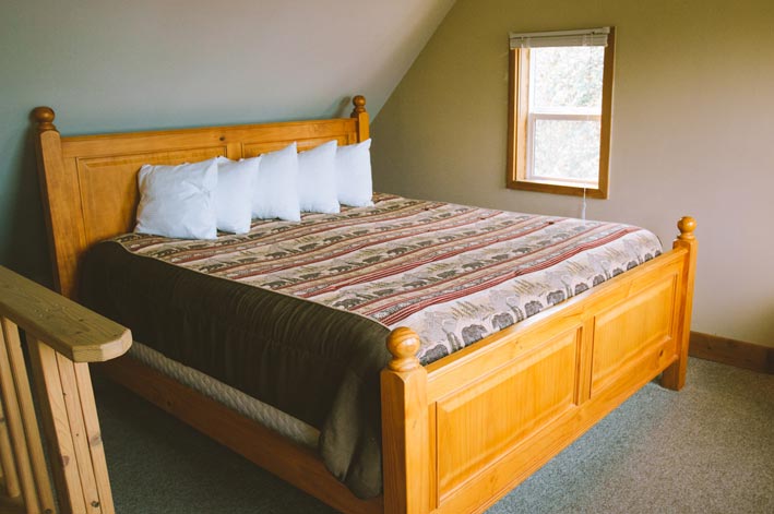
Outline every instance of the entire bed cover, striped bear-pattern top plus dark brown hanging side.
<svg viewBox="0 0 774 514"><path fill-rule="evenodd" d="M370 498L392 327L414 328L429 363L660 252L630 225L378 194L215 240L123 235L88 252L81 292L166 358L320 430L325 465Z"/></svg>

